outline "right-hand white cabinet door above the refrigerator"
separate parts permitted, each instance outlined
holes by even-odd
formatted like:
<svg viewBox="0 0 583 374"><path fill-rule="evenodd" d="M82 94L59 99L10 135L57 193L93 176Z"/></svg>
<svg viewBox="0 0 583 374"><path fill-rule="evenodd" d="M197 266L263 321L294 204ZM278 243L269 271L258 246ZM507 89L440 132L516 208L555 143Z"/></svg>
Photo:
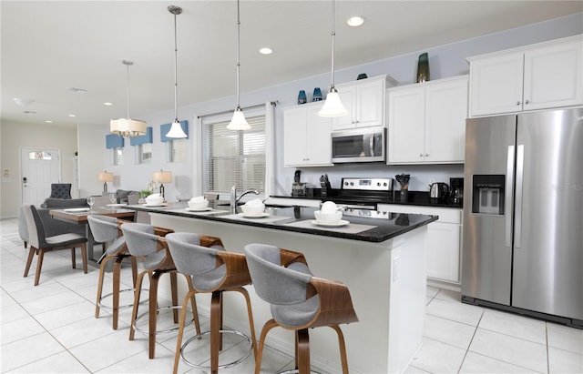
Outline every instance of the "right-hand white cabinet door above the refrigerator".
<svg viewBox="0 0 583 374"><path fill-rule="evenodd" d="M525 53L525 110L583 104L581 40Z"/></svg>

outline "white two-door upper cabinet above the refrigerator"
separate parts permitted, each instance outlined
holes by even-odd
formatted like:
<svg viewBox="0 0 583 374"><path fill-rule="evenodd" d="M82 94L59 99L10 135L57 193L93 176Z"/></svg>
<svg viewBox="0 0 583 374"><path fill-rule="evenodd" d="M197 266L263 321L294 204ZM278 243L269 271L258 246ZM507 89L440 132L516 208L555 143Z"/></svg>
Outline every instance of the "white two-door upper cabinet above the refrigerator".
<svg viewBox="0 0 583 374"><path fill-rule="evenodd" d="M583 35L470 57L470 116L583 105Z"/></svg>

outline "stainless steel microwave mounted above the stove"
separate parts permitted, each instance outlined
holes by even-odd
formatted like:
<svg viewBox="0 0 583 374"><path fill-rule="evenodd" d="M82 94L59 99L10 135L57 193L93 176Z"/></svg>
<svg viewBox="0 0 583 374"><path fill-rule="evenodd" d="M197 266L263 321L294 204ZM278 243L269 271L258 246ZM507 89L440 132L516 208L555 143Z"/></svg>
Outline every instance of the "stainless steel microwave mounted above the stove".
<svg viewBox="0 0 583 374"><path fill-rule="evenodd" d="M332 162L379 162L385 160L384 127L363 127L332 132Z"/></svg>

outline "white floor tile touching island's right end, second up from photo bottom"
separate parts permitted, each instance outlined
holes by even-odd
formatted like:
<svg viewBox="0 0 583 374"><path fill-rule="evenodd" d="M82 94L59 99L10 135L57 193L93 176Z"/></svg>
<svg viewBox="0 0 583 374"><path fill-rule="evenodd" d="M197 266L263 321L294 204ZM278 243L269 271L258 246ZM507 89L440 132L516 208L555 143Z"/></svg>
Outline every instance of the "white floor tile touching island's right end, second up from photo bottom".
<svg viewBox="0 0 583 374"><path fill-rule="evenodd" d="M425 316L423 335L425 338L441 341L457 348L467 349L476 328L450 319Z"/></svg>

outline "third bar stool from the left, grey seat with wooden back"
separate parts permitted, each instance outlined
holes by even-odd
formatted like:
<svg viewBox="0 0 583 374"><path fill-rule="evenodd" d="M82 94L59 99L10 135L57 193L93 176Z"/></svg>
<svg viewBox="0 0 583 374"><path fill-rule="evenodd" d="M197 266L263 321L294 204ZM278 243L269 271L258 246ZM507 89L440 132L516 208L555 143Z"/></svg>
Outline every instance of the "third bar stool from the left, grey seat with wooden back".
<svg viewBox="0 0 583 374"><path fill-rule="evenodd" d="M257 354L257 344L255 339L255 326L253 324L253 314L251 312L251 298L247 289L243 286L251 284L251 277L247 268L245 256L240 253L227 252L220 239L215 243L209 243L208 238L192 233L172 233L166 237L172 258L175 259L179 272L192 276L194 288L184 298L182 312L180 313L179 337L176 344L176 354L174 356L174 373L179 369L179 357L191 367L197 369L210 369L210 373L216 374L219 369L230 368L237 365L251 354ZM203 244L207 242L205 247ZM251 339L239 331L223 329L222 327L222 294L226 291L240 292L247 302L247 316L249 318L249 328ZM201 334L197 331L197 336L187 340L182 345L184 334L184 319L186 317L186 307L189 298L196 293L211 293L210 300L210 331L202 335L210 335L210 366L197 365L184 355L184 350L194 339L200 339ZM219 364L219 353L222 350L222 333L236 334L246 339L249 350L246 355L226 364Z"/></svg>

